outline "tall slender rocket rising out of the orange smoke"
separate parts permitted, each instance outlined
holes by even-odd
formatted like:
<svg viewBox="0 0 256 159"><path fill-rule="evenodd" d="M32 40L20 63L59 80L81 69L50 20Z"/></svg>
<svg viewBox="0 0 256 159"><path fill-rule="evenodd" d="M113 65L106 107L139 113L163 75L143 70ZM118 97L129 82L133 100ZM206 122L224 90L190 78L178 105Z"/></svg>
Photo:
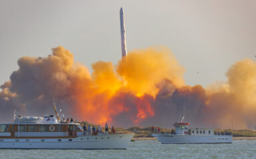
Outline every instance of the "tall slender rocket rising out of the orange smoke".
<svg viewBox="0 0 256 159"><path fill-rule="evenodd" d="M122 58L127 55L126 49L126 33L124 25L124 10L120 9L120 28L121 28L121 46L122 46Z"/></svg>

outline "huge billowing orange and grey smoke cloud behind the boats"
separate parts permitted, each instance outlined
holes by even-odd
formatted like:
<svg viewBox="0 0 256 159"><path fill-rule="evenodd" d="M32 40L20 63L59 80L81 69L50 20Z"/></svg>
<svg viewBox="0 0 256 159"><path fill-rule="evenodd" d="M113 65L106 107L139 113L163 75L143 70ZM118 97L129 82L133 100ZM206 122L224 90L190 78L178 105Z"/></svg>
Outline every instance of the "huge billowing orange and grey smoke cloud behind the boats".
<svg viewBox="0 0 256 159"><path fill-rule="evenodd" d="M186 85L185 68L164 47L133 50L115 66L96 62L91 74L62 46L45 58L22 57L18 66L1 85L1 121L11 121L14 108L30 116L54 113L55 102L66 117L118 127L170 128L183 113L193 127L256 124L256 63L250 59L233 64L226 82L206 88Z"/></svg>

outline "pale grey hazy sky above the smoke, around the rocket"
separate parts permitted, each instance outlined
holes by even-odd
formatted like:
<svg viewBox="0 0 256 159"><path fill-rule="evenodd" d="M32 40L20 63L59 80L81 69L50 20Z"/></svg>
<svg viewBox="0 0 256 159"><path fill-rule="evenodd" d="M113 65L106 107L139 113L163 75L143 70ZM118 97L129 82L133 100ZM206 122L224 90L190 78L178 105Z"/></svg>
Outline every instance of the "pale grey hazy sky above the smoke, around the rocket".
<svg viewBox="0 0 256 159"><path fill-rule="evenodd" d="M0 0L0 85L21 56L64 46L90 69L121 57L120 7L129 50L167 46L186 68L189 85L226 80L237 60L256 59L256 1L11 1ZM199 72L199 74L197 74Z"/></svg>

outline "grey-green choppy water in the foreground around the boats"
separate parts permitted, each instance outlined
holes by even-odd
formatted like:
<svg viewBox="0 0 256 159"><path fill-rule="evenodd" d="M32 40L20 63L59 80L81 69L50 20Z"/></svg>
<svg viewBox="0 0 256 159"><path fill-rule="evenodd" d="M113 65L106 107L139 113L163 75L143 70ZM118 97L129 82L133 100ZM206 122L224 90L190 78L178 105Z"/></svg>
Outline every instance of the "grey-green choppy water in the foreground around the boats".
<svg viewBox="0 0 256 159"><path fill-rule="evenodd" d="M256 140L232 144L130 142L128 150L0 150L0 158L256 158Z"/></svg>

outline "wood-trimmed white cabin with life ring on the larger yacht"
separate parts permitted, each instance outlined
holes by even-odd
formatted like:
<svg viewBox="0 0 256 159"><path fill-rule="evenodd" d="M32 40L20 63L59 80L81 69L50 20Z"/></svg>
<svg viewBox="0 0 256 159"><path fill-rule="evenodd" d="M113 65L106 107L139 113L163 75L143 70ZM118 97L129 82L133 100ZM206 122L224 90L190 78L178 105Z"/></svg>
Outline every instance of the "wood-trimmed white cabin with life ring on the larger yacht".
<svg viewBox="0 0 256 159"><path fill-rule="evenodd" d="M75 137L82 133L78 123L62 123L51 117L17 117L14 123L0 124L1 138Z"/></svg>

